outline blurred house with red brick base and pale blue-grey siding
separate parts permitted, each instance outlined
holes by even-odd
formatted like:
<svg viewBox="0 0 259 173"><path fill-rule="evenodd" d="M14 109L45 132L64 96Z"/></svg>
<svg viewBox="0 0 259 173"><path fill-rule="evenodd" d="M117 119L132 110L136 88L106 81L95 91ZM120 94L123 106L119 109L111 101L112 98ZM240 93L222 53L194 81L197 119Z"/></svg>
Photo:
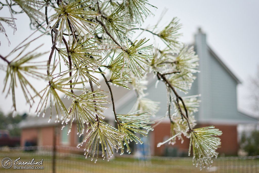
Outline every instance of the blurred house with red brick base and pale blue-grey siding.
<svg viewBox="0 0 259 173"><path fill-rule="evenodd" d="M206 127L213 125L222 130L221 148L218 149L220 154L237 155L238 132L237 126L241 123L254 123L258 122L257 119L245 115L238 111L237 108L237 92L236 87L241 82L238 78L227 68L227 66L220 60L220 58L211 50L206 43L206 34L201 30L195 35L194 43L195 51L199 56L199 70L196 73L197 79L192 85L192 89L188 95L201 94L199 112L195 113L197 120L196 127ZM156 79L153 75L148 76L148 89L149 95L147 98L160 102L160 110L156 115L162 117L167 111L166 89L163 82L159 82L155 88ZM104 91L108 91L104 81L100 82ZM116 87L112 85L114 92L114 100L117 114L127 114L133 107L136 96L134 91L127 90L123 87ZM110 97L109 97L110 98ZM64 104L69 106L71 99L64 100ZM110 109L105 110L104 115L106 121L115 124L111 105L107 105ZM49 110L47 110L48 112ZM21 132L21 146L24 146L26 141L36 140L37 145L46 146L53 145L53 139L56 140L56 145L74 147L82 137L76 135L76 126L73 127L71 133L67 135L68 126L61 130L61 124L55 123L51 120L48 123L49 117L46 113L45 117L31 117L20 123ZM153 118L154 120L154 118ZM58 127L56 137L54 137L55 127ZM156 145L169 138L170 135L170 122L169 119L164 119L157 125L153 132L150 132L148 138L149 152L152 155L170 155L170 156L186 156L189 148L189 140L185 139L181 144L177 140L174 146L165 144L160 148ZM82 135L83 136L83 135ZM137 147L138 148L138 147Z"/></svg>

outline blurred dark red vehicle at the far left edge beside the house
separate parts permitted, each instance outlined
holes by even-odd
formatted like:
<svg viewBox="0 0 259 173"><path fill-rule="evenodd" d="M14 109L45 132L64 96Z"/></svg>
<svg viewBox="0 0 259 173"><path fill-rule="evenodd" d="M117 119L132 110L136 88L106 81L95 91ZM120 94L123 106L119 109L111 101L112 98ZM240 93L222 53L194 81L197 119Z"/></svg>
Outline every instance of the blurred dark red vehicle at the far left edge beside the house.
<svg viewBox="0 0 259 173"><path fill-rule="evenodd" d="M0 147L2 146L20 146L20 136L10 136L8 130L0 130Z"/></svg>

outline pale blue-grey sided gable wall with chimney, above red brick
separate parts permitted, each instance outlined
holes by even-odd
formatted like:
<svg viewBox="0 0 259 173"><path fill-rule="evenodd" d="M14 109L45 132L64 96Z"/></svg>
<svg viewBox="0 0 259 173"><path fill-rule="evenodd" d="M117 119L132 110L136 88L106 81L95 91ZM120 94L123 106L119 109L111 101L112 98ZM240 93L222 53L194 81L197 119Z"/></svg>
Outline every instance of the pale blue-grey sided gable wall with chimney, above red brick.
<svg viewBox="0 0 259 173"><path fill-rule="evenodd" d="M197 75L198 93L202 94L197 116L198 122L238 124L258 121L238 112L238 78L206 44L206 34L199 31L195 36L195 49L199 56Z"/></svg>

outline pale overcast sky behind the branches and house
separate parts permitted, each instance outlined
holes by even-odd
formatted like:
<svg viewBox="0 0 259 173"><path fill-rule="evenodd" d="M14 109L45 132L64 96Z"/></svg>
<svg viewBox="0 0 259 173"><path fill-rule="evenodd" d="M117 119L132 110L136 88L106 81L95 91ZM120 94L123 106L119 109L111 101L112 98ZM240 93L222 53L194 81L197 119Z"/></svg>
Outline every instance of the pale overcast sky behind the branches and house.
<svg viewBox="0 0 259 173"><path fill-rule="evenodd" d="M170 22L173 17L178 17L183 24L180 30L183 36L180 40L184 43L192 44L194 42L194 34L198 32L198 27L207 35L207 44L227 65L227 67L242 82L238 86L238 109L253 114L249 106L249 78L255 76L257 66L259 65L259 1L237 1L237 0L150 0L150 4L157 9L150 8L154 16L147 18L144 25L153 25L158 20L161 12L168 9L161 24ZM8 17L9 11L2 9L0 16ZM30 29L30 20L25 14L14 16L17 18L17 31L13 35L12 29L5 27L6 33L11 42L8 42L5 36L0 33L0 54L7 55L22 40L28 37L33 31ZM45 43L42 50L50 50L51 44L49 37L42 37L37 44ZM4 64L0 61L0 64ZM0 91L3 91L3 80L5 72L0 71ZM44 81L37 82L38 87L46 85ZM5 98L5 94L0 93L1 102L0 109L4 113L11 112L12 99L11 96ZM19 113L28 112L28 105L18 88L16 92L17 110Z"/></svg>

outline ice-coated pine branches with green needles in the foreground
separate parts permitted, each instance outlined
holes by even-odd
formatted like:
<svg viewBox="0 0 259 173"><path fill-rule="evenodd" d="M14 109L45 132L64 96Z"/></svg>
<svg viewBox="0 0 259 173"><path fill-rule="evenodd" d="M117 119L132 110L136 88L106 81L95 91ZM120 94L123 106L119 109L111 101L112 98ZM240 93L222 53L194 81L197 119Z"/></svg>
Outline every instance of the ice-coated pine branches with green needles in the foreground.
<svg viewBox="0 0 259 173"><path fill-rule="evenodd" d="M86 132L78 144L80 147L86 143L86 157L95 158L96 162L98 150L102 150L103 159L109 160L114 148L123 154L126 147L130 153L128 143L142 143L139 135L147 135L153 130L149 116L157 112L158 105L144 98L145 76L153 73L165 84L168 100L165 116L171 122L170 138L157 147L167 142L174 144L176 138L186 136L190 138L189 155L192 148L193 162L201 169L211 165L212 157L218 155L215 150L220 146L217 136L221 131L213 126L194 129L193 112L198 111L199 105L197 96L181 97L178 94L178 91L188 93L195 80L193 74L198 72L198 56L193 47L179 42L179 19L173 18L166 26L158 22L152 27L138 27L155 9L147 0L12 0L1 5L10 8L11 12L10 18L0 17L1 23L8 23L15 31L13 15L19 12L13 7L19 6L37 28L35 32L48 34L49 44L52 44L49 55L36 53L40 45L32 51L27 50L37 38L29 43L24 41L6 57L0 55L6 65L4 92L12 93L14 113L15 89L19 83L30 106L35 97L40 97L38 115L44 116L49 104L50 119L62 121L64 126L70 123L69 132L76 124L79 136ZM48 15L50 9L55 11L51 16ZM6 35L1 23L1 32ZM164 48L159 49L163 45L152 45L148 38L133 40L137 30L152 33L164 42ZM61 66L63 62L65 68ZM46 73L41 73L42 68ZM108 101L96 77L98 73L109 87L108 96L118 128L108 124L102 115ZM46 80L48 85L37 91L27 76ZM116 113L112 84L136 91L138 99L132 113ZM88 85L90 89L87 89ZM94 90L95 85L100 89ZM73 100L70 107L64 106L60 92ZM53 112L56 112L55 117Z"/></svg>

